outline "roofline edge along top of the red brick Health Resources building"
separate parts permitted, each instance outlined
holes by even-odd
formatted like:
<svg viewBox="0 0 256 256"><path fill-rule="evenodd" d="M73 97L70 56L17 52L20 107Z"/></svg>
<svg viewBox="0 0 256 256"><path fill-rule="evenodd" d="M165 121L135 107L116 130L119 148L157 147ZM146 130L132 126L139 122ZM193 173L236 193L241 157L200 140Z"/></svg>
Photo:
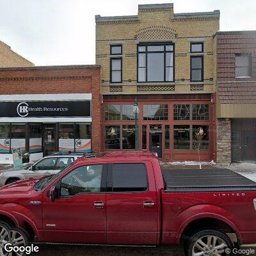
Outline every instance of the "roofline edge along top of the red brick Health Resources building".
<svg viewBox="0 0 256 256"><path fill-rule="evenodd" d="M52 65L52 66L34 66L34 67L3 67L0 68L0 72L4 70L57 70L57 69L100 69L100 65Z"/></svg>

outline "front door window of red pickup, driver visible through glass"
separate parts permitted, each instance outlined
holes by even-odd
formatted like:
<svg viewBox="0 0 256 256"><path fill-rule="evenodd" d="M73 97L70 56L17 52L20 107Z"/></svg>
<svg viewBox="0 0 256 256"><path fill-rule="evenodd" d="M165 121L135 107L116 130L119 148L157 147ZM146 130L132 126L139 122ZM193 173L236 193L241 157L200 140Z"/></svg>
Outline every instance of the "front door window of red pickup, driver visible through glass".
<svg viewBox="0 0 256 256"><path fill-rule="evenodd" d="M61 196L100 192L102 164L80 166L61 179Z"/></svg>

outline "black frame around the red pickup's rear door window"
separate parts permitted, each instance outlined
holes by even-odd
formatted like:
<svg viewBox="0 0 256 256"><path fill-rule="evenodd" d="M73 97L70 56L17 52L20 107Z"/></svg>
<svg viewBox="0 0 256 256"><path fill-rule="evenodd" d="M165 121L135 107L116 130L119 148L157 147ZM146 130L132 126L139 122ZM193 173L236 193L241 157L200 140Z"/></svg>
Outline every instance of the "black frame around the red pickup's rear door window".
<svg viewBox="0 0 256 256"><path fill-rule="evenodd" d="M146 170L146 177L147 177L147 189L144 191L113 191L113 173L114 173L114 164L143 164ZM116 162L116 163L108 163L108 173L107 173L107 193L109 194L138 194L138 193L148 193L149 191L149 182L148 182L148 169L147 164L142 162Z"/></svg>

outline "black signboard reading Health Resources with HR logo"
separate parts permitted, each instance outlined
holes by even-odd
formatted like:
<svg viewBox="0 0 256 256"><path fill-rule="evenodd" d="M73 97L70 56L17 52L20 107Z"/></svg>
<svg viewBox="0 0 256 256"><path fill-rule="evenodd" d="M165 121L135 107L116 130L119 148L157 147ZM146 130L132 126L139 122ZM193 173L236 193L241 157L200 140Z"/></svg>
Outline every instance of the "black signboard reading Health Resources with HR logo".
<svg viewBox="0 0 256 256"><path fill-rule="evenodd" d="M0 117L91 117L91 100L0 102Z"/></svg>

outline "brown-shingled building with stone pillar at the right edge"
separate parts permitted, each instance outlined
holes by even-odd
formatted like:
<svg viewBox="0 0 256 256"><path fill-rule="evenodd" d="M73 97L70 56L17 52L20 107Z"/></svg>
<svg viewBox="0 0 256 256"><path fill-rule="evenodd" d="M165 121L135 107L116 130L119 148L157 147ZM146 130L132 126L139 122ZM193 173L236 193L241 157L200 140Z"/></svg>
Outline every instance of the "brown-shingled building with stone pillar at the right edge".
<svg viewBox="0 0 256 256"><path fill-rule="evenodd" d="M218 162L256 161L256 31L216 33Z"/></svg>

